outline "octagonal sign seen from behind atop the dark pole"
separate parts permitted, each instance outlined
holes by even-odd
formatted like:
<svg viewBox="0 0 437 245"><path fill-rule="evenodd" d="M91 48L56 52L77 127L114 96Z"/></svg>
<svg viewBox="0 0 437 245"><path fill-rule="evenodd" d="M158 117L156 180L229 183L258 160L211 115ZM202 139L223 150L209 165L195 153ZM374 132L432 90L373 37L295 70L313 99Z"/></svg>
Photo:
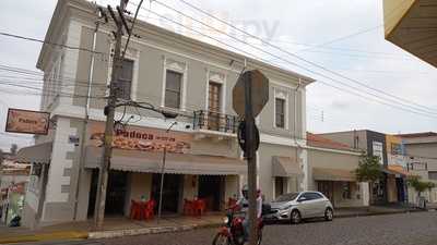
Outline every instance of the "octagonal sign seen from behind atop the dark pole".
<svg viewBox="0 0 437 245"><path fill-rule="evenodd" d="M247 71L240 75L233 89L233 108L241 118L245 118L246 86L251 87L252 115L257 117L269 101L269 78L260 71Z"/></svg>

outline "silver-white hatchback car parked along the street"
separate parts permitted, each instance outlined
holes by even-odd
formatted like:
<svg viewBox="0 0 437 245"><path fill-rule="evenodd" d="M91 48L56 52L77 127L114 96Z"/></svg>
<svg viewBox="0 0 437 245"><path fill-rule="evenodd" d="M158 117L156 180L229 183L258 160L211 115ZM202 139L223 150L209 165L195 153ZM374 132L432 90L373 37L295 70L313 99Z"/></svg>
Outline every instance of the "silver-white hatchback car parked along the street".
<svg viewBox="0 0 437 245"><path fill-rule="evenodd" d="M271 204L270 212L264 217L268 221L290 221L299 223L303 219L333 219L331 201L319 192L288 193L279 196Z"/></svg>

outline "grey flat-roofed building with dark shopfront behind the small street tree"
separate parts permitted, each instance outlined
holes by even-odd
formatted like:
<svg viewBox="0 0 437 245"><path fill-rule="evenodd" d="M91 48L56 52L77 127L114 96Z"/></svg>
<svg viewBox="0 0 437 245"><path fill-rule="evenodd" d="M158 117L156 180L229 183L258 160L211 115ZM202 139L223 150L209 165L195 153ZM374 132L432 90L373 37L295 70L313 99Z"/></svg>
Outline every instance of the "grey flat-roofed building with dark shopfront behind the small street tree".
<svg viewBox="0 0 437 245"><path fill-rule="evenodd" d="M373 183L370 194L373 204L406 201L406 176L389 167L386 134L361 130L327 133L320 134L320 136L345 144L353 149L363 150L369 156L379 157L380 163L383 166L383 177Z"/></svg>

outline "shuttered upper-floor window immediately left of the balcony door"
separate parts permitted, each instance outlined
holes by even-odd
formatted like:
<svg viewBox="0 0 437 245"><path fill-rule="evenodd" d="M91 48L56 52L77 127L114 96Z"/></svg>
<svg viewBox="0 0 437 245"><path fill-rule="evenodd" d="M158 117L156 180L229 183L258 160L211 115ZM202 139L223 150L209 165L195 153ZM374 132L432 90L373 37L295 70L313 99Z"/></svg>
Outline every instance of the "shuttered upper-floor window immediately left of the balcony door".
<svg viewBox="0 0 437 245"><path fill-rule="evenodd" d="M180 108L180 88L184 74L167 70L165 85L165 107Z"/></svg>

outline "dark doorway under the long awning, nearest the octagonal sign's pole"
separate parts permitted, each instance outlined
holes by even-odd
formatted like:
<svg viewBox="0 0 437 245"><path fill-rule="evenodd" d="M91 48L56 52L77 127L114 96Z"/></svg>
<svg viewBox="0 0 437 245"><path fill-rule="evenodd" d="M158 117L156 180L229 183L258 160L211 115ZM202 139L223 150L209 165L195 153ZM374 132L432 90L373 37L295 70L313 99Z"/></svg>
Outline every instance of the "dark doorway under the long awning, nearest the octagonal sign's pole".
<svg viewBox="0 0 437 245"><path fill-rule="evenodd" d="M206 211L220 211L224 196L224 176L199 176L199 198L205 200Z"/></svg>

